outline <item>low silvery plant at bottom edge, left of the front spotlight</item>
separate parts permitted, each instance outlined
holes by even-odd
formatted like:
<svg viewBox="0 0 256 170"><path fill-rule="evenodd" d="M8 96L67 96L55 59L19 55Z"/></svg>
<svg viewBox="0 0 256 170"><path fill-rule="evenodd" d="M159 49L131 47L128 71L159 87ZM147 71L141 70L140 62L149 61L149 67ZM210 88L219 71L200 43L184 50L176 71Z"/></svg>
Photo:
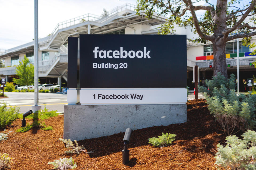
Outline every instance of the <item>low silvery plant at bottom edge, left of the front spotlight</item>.
<svg viewBox="0 0 256 170"><path fill-rule="evenodd" d="M48 162L48 164L52 164L54 169L66 170L66 169L74 169L77 167L77 163L74 163L73 158L60 158L59 160L54 160L54 162Z"/></svg>

